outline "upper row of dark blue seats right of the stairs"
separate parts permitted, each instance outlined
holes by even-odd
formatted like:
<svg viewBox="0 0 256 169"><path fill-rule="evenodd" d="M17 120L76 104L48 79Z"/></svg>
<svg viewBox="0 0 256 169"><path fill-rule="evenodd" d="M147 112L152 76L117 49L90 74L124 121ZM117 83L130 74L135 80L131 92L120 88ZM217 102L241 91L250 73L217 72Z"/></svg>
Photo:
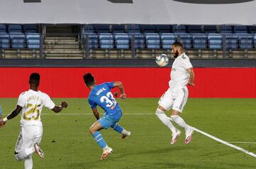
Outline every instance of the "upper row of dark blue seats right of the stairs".
<svg viewBox="0 0 256 169"><path fill-rule="evenodd" d="M256 26L109 25L82 26L82 33L256 33Z"/></svg>

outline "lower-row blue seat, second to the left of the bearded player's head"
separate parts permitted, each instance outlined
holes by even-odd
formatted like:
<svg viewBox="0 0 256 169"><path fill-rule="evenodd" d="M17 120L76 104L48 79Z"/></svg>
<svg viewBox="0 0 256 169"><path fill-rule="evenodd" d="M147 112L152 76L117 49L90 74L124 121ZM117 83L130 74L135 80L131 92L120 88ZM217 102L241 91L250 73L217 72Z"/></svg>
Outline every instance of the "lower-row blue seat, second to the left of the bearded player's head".
<svg viewBox="0 0 256 169"><path fill-rule="evenodd" d="M160 38L158 33L145 33L144 36L146 38L146 48L160 48Z"/></svg>

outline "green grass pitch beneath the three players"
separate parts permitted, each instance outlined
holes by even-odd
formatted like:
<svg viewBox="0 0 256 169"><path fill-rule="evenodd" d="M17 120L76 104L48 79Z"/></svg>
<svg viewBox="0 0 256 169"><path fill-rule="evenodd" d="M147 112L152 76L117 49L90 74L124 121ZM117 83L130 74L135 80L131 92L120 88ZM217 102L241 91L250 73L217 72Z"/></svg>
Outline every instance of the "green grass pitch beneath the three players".
<svg viewBox="0 0 256 169"><path fill-rule="evenodd" d="M46 158L41 160L33 154L34 168L256 168L256 159L252 156L201 133L195 132L191 143L185 145L181 130L181 137L171 146L171 131L154 115L158 99L118 100L124 114L119 124L132 131L132 136L122 140L112 129L102 131L114 153L107 160L99 160L102 149L88 132L95 117L87 100L54 99L55 103L65 100L69 106L60 112L63 115L43 109L41 147ZM16 102L17 99L0 99L4 115L14 109ZM99 110L102 113L102 109ZM181 116L187 124L224 141L256 142L255 99L188 99ZM17 116L0 129L1 169L23 168L23 161L14 159L19 120ZM256 153L256 144L233 144Z"/></svg>

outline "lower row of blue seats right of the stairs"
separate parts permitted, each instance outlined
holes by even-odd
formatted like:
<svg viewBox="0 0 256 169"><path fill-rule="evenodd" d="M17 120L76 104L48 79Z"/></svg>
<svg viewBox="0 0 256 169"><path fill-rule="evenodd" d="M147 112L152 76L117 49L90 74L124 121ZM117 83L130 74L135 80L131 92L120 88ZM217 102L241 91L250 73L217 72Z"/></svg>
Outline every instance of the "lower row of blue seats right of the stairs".
<svg viewBox="0 0 256 169"><path fill-rule="evenodd" d="M252 49L256 45L256 35L220 33L86 33L82 35L87 48L103 49L171 49L172 43L181 41L186 49Z"/></svg>

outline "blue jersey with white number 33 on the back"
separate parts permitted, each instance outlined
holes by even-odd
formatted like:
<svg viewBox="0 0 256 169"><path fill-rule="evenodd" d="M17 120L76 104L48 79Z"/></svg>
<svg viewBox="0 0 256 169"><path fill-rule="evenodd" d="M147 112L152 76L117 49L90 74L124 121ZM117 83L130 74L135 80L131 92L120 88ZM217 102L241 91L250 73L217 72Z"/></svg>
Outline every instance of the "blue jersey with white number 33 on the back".
<svg viewBox="0 0 256 169"><path fill-rule="evenodd" d="M90 107L94 109L99 105L104 109L106 115L122 116L122 111L113 97L110 89L114 87L114 82L105 82L95 87L90 91L88 102Z"/></svg>

